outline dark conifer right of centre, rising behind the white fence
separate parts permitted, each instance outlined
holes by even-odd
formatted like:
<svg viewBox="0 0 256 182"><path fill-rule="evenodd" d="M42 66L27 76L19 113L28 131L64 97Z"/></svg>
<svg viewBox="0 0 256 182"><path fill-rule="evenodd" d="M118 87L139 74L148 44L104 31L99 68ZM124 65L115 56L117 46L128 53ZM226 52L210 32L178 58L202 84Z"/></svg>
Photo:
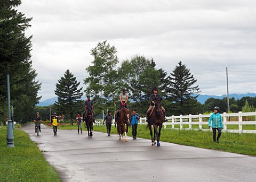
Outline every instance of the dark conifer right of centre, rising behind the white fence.
<svg viewBox="0 0 256 182"><path fill-rule="evenodd" d="M186 65L179 62L169 76L168 94L169 101L172 102L172 115L188 115L196 112L198 97L196 94L200 92L198 85L193 86L196 81Z"/></svg>

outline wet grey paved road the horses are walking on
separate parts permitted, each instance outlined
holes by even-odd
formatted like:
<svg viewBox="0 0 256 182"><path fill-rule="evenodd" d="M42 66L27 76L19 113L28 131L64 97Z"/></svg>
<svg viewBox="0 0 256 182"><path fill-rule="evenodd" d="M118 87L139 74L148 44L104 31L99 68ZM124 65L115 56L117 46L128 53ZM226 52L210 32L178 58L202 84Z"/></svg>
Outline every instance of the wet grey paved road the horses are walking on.
<svg viewBox="0 0 256 182"><path fill-rule="evenodd" d="M256 158L229 152L161 142L151 146L138 138L119 141L118 135L34 125L22 127L38 144L63 181L256 181Z"/></svg>

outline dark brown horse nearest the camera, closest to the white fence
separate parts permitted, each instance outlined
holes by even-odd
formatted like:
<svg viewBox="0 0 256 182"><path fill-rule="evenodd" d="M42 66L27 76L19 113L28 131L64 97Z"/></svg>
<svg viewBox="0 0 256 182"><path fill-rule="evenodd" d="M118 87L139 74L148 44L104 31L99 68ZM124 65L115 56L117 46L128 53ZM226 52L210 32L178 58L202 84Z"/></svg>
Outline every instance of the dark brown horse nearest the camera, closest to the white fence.
<svg viewBox="0 0 256 182"><path fill-rule="evenodd" d="M150 120L148 122L148 128L151 135L152 146L156 144L156 141L155 141L156 139L157 139L157 146L160 146L159 138L161 135L161 129L164 122L164 113L161 107L162 107L162 102L156 102L155 106L150 112ZM154 138L153 138L153 132L151 128L152 125L154 126ZM157 131L157 127L159 127L158 131Z"/></svg>

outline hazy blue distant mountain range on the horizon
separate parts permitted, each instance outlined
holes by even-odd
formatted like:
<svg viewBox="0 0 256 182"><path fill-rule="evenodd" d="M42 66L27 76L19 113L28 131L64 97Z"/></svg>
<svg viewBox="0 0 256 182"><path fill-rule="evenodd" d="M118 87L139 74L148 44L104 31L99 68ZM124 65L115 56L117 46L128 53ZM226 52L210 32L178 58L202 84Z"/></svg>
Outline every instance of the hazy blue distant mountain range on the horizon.
<svg viewBox="0 0 256 182"><path fill-rule="evenodd" d="M200 103L204 103L207 99L209 98L214 98L214 99L223 99L227 97L227 95L222 95L222 96L214 96L214 95L201 95L197 97L197 101ZM234 94L229 94L229 98L234 97L236 100L241 99L243 97L256 97L256 93L234 93ZM82 100L85 100L85 96L82 97ZM46 99L38 103L37 106L50 106L53 105L55 101L57 101L57 97L53 97L51 99Z"/></svg>

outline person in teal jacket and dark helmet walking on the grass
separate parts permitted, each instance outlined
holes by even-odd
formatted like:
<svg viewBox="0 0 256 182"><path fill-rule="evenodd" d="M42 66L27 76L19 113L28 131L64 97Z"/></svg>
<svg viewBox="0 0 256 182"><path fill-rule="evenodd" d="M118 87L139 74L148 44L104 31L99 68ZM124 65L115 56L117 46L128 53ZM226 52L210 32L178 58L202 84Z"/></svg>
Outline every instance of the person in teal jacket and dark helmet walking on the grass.
<svg viewBox="0 0 256 182"><path fill-rule="evenodd" d="M223 129L223 122L222 122L222 117L219 114L219 107L214 107L213 108L214 112L209 118L209 128L211 127L212 123L212 132L213 132L213 141L219 143L219 138L221 135L221 129ZM216 140L216 130L218 131L218 136Z"/></svg>

